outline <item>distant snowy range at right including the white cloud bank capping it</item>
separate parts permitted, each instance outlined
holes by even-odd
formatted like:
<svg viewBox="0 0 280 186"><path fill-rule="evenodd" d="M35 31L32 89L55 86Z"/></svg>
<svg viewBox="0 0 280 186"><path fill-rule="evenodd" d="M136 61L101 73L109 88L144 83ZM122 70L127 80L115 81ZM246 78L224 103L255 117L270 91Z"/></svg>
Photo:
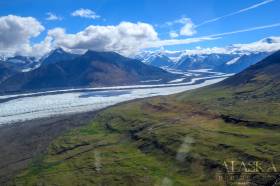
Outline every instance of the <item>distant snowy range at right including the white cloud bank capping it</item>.
<svg viewBox="0 0 280 186"><path fill-rule="evenodd" d="M225 48L208 48L183 51L143 51L135 58L146 64L177 70L212 69L238 73L261 61L279 49L278 37L265 38L249 44L236 44Z"/></svg>

